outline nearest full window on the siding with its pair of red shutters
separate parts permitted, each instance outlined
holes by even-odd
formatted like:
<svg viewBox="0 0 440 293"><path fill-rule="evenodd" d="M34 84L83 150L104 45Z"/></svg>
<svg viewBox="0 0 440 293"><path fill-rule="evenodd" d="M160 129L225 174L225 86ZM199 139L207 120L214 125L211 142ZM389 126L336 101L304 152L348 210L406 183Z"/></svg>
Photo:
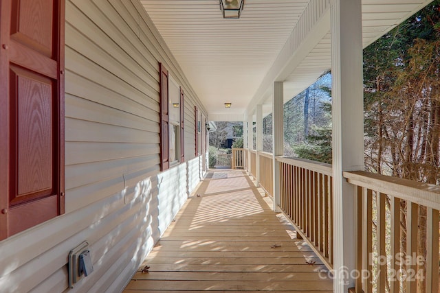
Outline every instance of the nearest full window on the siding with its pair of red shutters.
<svg viewBox="0 0 440 293"><path fill-rule="evenodd" d="M184 163L184 91L160 67L161 170Z"/></svg>

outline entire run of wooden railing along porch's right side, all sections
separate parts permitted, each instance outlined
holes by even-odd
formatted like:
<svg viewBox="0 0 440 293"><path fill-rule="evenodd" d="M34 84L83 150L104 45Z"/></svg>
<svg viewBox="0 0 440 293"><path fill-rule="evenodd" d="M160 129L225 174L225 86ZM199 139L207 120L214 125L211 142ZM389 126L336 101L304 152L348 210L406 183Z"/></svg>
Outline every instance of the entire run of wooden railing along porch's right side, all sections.
<svg viewBox="0 0 440 293"><path fill-rule="evenodd" d="M280 181L273 182L272 154L251 154L251 174L260 160L260 184L323 263L333 269L333 174L331 165L276 157ZM440 187L367 172L344 172L354 185L356 268L346 273L355 292L440 292ZM273 195L273 194L272 194Z"/></svg>

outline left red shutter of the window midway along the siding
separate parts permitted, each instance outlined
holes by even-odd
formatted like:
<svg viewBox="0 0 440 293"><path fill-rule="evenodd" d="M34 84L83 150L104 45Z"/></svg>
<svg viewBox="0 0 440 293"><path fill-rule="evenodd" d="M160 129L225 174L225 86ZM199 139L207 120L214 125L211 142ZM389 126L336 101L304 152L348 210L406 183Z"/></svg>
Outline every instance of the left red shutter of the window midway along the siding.
<svg viewBox="0 0 440 293"><path fill-rule="evenodd" d="M164 171L170 167L169 159L169 137L168 137L168 70L162 63L160 69L160 170Z"/></svg>

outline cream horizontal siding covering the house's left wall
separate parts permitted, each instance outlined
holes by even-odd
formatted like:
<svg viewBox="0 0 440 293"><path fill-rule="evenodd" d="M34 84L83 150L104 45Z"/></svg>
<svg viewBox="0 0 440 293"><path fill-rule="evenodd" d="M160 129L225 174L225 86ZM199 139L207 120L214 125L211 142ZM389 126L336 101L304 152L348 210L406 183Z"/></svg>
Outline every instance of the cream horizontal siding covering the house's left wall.
<svg viewBox="0 0 440 293"><path fill-rule="evenodd" d="M0 242L1 292L67 290L85 240L94 272L69 292L120 292L199 183L203 105L139 3L67 0L65 52L66 213ZM185 93L186 163L162 173L158 62Z"/></svg>

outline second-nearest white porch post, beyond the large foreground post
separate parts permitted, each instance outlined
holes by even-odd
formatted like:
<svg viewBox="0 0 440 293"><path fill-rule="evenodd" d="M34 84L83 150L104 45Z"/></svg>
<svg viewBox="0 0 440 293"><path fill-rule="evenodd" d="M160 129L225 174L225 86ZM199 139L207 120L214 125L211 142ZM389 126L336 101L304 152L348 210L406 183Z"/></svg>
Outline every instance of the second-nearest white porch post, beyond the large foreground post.
<svg viewBox="0 0 440 293"><path fill-rule="evenodd" d="M280 202L280 170L276 163L276 156L284 154L284 127L283 127L283 82L274 82L274 96L272 100L272 153L274 163L274 211L278 211Z"/></svg>

